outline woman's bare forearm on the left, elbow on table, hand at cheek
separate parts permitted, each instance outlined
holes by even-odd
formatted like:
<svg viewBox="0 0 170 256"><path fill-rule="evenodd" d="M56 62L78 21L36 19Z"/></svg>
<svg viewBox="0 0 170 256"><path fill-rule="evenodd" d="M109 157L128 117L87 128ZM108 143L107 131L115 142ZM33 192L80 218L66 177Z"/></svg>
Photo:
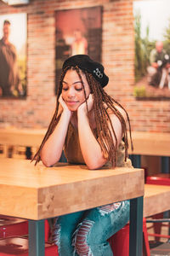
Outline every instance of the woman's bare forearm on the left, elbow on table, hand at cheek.
<svg viewBox="0 0 170 256"><path fill-rule="evenodd" d="M71 119L71 111L66 107L61 96L59 97L59 103L63 108L59 123L56 125L53 133L48 137L41 151L42 163L45 166L53 166L59 161Z"/></svg>

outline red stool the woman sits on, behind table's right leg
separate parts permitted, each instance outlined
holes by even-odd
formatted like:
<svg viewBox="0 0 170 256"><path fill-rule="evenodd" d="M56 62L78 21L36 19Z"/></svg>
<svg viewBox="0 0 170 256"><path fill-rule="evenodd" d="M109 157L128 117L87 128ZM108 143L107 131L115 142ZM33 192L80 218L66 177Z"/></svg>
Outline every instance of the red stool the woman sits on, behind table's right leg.
<svg viewBox="0 0 170 256"><path fill-rule="evenodd" d="M148 234L146 229L146 220L143 219L143 255L150 256L150 246L148 241ZM122 230L116 232L115 235L111 236L109 239L111 244L111 249L113 251L114 256L128 256L129 255L129 224L126 224Z"/></svg>

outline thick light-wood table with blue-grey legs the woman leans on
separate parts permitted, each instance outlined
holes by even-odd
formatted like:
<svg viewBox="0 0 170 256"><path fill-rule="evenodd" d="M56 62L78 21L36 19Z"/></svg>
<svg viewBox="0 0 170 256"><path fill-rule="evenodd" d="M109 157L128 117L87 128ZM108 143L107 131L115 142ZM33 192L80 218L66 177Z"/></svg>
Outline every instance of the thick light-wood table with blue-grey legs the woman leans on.
<svg viewBox="0 0 170 256"><path fill-rule="evenodd" d="M0 160L0 214L29 220L29 255L44 255L44 219L130 199L129 255L142 256L144 172Z"/></svg>

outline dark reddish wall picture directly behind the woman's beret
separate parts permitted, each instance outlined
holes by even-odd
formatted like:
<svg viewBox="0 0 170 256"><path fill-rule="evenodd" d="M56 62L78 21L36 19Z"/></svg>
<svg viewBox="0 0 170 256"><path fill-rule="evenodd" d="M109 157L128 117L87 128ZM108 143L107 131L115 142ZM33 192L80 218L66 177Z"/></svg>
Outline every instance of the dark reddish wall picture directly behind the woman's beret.
<svg viewBox="0 0 170 256"><path fill-rule="evenodd" d="M55 12L55 93L62 64L71 55L88 54L101 58L102 7L66 9Z"/></svg>

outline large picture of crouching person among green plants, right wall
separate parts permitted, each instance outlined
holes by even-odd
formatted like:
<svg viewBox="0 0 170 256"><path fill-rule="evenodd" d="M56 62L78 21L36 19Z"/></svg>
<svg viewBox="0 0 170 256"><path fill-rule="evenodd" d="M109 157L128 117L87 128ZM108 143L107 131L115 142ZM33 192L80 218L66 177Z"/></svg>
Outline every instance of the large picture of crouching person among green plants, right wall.
<svg viewBox="0 0 170 256"><path fill-rule="evenodd" d="M135 86L139 100L170 99L169 0L133 1Z"/></svg>

